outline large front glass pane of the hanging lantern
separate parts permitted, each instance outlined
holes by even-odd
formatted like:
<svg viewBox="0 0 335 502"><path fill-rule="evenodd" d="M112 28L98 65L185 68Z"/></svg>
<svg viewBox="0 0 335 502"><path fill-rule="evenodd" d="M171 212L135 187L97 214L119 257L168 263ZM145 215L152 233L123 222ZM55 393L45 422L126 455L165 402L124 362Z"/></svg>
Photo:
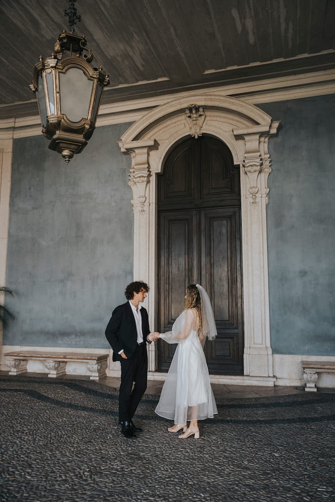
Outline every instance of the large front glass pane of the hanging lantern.
<svg viewBox="0 0 335 502"><path fill-rule="evenodd" d="M79 68L59 73L60 111L71 122L87 118L93 80L88 80Z"/></svg>

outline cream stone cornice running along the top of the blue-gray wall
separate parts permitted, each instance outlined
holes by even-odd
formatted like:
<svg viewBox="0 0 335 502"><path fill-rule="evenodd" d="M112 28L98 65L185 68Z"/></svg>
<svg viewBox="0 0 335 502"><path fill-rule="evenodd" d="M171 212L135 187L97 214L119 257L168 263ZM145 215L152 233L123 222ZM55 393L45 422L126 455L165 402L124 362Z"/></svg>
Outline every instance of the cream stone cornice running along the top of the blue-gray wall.
<svg viewBox="0 0 335 502"><path fill-rule="evenodd" d="M135 122L148 111L170 101L189 99L193 96L215 94L231 96L249 104L261 104L289 99L322 96L335 93L335 70L324 70L289 77L269 78L255 82L206 87L201 90L167 93L161 96L132 99L100 106L96 127L116 123ZM22 103L24 105L25 103ZM41 134L40 118L30 115L0 120L0 139L15 139Z"/></svg>

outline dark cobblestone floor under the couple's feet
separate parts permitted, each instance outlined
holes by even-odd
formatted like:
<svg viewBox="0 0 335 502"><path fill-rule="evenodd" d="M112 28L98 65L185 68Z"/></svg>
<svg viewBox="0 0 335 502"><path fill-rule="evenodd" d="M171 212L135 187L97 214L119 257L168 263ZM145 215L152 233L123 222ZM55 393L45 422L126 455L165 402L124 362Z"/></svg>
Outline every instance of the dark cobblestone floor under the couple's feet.
<svg viewBox="0 0 335 502"><path fill-rule="evenodd" d="M126 440L117 398L96 382L0 376L0 500L334 500L335 394L218 398L198 440L166 431L155 394Z"/></svg>

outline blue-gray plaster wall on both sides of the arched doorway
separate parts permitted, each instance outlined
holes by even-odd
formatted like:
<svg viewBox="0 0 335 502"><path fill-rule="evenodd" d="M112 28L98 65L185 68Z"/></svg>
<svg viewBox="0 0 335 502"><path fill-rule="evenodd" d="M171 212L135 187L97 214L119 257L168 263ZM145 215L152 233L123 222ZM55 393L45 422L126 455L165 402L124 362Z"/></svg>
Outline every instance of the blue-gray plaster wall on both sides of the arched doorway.
<svg viewBox="0 0 335 502"><path fill-rule="evenodd" d="M267 207L271 345L334 354L335 97L258 105L281 120L270 140ZM42 136L16 139L4 344L107 347L110 311L132 280L130 124L97 128L68 166ZM139 278L140 279L140 278Z"/></svg>

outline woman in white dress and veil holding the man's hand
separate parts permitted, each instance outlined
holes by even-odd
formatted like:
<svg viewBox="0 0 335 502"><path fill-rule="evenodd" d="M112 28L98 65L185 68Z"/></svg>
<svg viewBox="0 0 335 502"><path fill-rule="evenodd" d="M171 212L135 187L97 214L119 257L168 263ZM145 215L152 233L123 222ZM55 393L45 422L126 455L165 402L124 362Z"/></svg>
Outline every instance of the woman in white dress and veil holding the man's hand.
<svg viewBox="0 0 335 502"><path fill-rule="evenodd" d="M174 419L169 432L183 429L179 438L194 434L199 438L198 420L213 418L217 413L210 387L203 345L206 337L213 340L216 327L207 293L199 284L186 290L185 310L172 326L172 331L158 336L168 343L178 343L155 413ZM187 428L187 421L190 421Z"/></svg>

